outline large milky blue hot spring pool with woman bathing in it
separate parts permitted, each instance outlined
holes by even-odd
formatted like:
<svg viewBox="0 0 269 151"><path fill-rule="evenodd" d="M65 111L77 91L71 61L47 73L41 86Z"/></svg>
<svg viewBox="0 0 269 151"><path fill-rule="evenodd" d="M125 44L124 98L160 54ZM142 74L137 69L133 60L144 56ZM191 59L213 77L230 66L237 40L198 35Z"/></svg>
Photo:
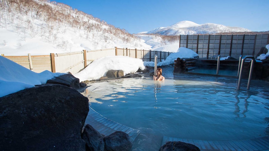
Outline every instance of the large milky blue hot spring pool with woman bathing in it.
<svg viewBox="0 0 269 151"><path fill-rule="evenodd" d="M158 150L163 136L235 141L269 135L269 84L265 81L172 74L89 84L89 106L99 114L140 130L133 150ZM86 119L86 123L87 123ZM150 144L150 145L149 145ZM146 148L146 149L145 149Z"/></svg>

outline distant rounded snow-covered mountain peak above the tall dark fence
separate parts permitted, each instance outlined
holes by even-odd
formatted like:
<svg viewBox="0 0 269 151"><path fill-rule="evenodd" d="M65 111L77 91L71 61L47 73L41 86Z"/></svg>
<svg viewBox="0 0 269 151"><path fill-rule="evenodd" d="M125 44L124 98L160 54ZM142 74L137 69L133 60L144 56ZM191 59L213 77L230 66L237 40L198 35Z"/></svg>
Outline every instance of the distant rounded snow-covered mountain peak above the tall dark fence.
<svg viewBox="0 0 269 151"><path fill-rule="evenodd" d="M205 23L196 24L192 21L180 21L168 27L159 27L149 32L160 35L194 35L194 34L214 34L225 32L250 32L250 30L241 27L228 27L220 24Z"/></svg>

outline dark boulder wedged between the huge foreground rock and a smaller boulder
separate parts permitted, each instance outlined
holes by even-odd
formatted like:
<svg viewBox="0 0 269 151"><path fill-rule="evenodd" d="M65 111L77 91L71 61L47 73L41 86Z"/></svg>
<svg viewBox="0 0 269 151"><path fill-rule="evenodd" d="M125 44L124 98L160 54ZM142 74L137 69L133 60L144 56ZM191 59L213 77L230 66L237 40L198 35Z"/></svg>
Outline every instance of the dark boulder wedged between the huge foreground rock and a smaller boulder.
<svg viewBox="0 0 269 151"><path fill-rule="evenodd" d="M89 124L83 130L82 139L86 142L86 150L103 151L105 148L103 135Z"/></svg>

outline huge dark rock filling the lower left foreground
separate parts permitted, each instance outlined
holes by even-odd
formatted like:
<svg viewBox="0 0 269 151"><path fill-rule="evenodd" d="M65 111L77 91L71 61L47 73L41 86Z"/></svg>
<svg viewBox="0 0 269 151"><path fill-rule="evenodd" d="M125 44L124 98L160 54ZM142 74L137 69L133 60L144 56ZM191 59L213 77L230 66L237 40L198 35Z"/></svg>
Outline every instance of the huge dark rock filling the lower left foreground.
<svg viewBox="0 0 269 151"><path fill-rule="evenodd" d="M85 150L81 130L88 98L46 84L0 98L1 150Z"/></svg>

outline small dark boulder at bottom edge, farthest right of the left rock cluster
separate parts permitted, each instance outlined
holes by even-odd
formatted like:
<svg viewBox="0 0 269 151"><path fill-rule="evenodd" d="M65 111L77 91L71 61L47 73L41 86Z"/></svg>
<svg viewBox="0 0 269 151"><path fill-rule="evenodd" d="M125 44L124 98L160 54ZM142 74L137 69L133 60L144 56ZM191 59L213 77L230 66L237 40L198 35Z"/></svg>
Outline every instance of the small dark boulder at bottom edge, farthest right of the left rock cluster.
<svg viewBox="0 0 269 151"><path fill-rule="evenodd" d="M129 141L129 135L125 132L116 131L104 138L105 150L107 151L129 151L132 149L132 143Z"/></svg>

